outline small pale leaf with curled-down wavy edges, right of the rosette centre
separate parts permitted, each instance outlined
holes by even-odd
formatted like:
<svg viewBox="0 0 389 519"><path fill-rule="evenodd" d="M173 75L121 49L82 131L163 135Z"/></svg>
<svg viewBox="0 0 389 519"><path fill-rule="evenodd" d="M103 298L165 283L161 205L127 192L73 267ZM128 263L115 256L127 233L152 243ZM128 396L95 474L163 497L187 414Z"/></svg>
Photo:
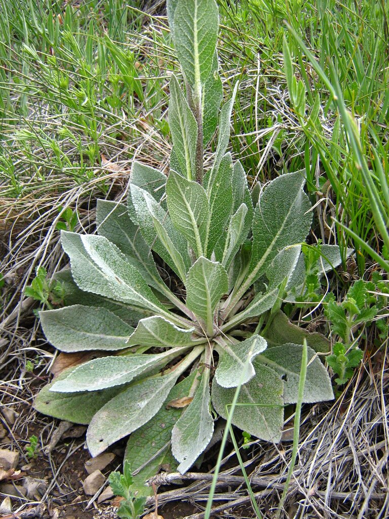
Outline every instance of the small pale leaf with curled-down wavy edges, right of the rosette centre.
<svg viewBox="0 0 389 519"><path fill-rule="evenodd" d="M237 344L230 344L227 339L217 341L219 362L215 371L216 381L224 388L246 384L255 375L252 360L267 347L266 340L253 335ZM244 371L243 378L242 371Z"/></svg>

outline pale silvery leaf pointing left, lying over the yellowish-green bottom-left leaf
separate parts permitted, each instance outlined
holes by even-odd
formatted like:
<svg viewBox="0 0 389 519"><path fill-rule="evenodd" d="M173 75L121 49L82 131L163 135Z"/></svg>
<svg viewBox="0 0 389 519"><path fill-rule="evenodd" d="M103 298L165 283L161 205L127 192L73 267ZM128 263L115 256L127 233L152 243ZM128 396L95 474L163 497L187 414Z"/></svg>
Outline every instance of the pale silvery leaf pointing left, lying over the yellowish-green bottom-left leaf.
<svg viewBox="0 0 389 519"><path fill-rule="evenodd" d="M150 372L155 366L162 368L183 351L182 348L173 348L155 355L142 353L130 357L111 356L93 359L77 366L65 379L55 383L51 391L59 393L99 391L129 384L135 377Z"/></svg>

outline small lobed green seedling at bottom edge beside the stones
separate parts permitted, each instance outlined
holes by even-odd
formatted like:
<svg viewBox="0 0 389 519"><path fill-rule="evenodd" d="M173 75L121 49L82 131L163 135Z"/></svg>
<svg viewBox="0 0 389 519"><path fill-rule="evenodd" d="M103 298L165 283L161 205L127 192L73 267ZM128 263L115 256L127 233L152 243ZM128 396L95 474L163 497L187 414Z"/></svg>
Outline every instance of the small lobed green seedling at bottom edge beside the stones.
<svg viewBox="0 0 389 519"><path fill-rule="evenodd" d="M131 466L127 459L124 461L122 474L120 472L111 472L109 474L109 484L113 493L124 498L120 502L117 511L121 519L137 519L137 517L143 514L145 508L146 498L134 496L131 489L133 482Z"/></svg>

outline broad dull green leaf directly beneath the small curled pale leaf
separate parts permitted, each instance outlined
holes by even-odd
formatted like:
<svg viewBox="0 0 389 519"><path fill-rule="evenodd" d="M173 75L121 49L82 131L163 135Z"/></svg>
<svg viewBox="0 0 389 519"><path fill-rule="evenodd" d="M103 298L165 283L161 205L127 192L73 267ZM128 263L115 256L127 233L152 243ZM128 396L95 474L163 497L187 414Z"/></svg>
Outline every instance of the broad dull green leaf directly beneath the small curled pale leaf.
<svg viewBox="0 0 389 519"><path fill-rule="evenodd" d="M270 367L255 360L253 363L255 376L240 390L232 423L256 438L277 443L281 440L284 423L283 381ZM225 419L234 393L234 388L223 388L213 379L212 403L216 412Z"/></svg>

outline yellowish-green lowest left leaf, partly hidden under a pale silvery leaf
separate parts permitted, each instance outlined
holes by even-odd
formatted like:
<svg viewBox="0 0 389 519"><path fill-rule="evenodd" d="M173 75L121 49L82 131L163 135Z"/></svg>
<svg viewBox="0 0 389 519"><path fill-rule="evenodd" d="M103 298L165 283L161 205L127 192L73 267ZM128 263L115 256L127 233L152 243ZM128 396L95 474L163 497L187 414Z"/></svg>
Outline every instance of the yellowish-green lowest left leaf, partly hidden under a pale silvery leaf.
<svg viewBox="0 0 389 519"><path fill-rule="evenodd" d="M54 393L50 391L53 384L66 378L74 369L63 371L51 384L41 389L34 400L33 407L39 413L71 421L74 424L86 425L104 404L115 397L120 388L109 388L94 393ZM85 405L86 402L88 405Z"/></svg>

